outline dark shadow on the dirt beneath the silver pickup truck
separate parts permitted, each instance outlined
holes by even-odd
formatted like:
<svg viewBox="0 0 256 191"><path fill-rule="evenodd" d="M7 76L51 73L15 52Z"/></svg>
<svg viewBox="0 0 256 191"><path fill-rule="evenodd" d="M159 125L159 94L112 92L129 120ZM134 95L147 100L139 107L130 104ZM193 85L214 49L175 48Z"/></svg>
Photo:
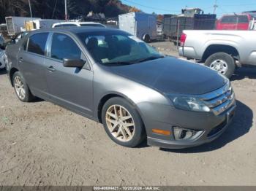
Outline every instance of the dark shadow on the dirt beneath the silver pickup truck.
<svg viewBox="0 0 256 191"><path fill-rule="evenodd" d="M236 69L235 74L233 74L230 80L236 81L244 78L256 79L256 66L241 67Z"/></svg>

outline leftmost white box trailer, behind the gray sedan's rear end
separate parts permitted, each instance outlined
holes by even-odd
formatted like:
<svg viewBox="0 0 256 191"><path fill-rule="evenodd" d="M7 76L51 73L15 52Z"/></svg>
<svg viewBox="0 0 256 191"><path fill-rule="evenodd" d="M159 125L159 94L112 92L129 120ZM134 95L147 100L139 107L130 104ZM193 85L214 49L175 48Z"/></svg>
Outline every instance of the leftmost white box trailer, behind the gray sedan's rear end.
<svg viewBox="0 0 256 191"><path fill-rule="evenodd" d="M8 34L14 36L21 31L21 28L24 28L26 21L39 19L37 17L5 17Z"/></svg>

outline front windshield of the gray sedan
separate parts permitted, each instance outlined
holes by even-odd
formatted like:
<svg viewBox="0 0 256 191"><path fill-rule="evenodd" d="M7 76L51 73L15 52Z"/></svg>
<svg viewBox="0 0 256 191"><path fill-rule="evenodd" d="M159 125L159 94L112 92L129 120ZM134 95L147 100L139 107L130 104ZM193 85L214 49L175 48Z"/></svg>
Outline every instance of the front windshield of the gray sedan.
<svg viewBox="0 0 256 191"><path fill-rule="evenodd" d="M96 31L78 36L98 63L129 64L162 57L153 47L122 31Z"/></svg>

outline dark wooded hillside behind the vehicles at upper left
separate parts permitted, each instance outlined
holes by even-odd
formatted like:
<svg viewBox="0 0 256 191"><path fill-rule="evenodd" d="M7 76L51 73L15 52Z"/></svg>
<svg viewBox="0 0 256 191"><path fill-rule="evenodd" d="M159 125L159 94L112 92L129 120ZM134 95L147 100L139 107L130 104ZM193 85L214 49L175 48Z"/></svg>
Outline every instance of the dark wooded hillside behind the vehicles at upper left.
<svg viewBox="0 0 256 191"><path fill-rule="evenodd" d="M30 0L33 17L64 19L64 0ZM67 0L69 18L85 16L91 10L103 12L106 17L116 17L129 12L129 7L119 0ZM28 0L0 0L0 23L6 16L30 16Z"/></svg>

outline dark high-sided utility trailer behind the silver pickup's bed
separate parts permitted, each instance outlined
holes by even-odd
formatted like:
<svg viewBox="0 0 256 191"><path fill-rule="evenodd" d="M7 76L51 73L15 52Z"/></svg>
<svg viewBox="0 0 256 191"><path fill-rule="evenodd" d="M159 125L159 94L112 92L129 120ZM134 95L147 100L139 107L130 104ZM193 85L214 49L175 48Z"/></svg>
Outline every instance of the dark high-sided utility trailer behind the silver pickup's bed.
<svg viewBox="0 0 256 191"><path fill-rule="evenodd" d="M193 17L164 15L163 32L165 39L179 42L184 30L213 30L216 16L214 14L195 14Z"/></svg>

